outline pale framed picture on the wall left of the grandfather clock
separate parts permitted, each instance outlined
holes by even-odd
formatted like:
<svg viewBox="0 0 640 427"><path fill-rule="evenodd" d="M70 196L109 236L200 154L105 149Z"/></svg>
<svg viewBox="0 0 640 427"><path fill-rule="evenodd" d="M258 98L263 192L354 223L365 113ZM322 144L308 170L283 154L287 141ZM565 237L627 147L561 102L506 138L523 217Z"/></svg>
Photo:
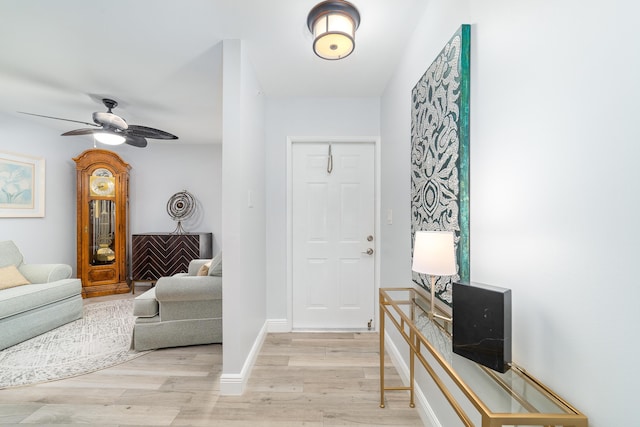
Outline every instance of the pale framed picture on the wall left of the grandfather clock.
<svg viewBox="0 0 640 427"><path fill-rule="evenodd" d="M44 158L0 152L0 217L43 217L44 183Z"/></svg>

